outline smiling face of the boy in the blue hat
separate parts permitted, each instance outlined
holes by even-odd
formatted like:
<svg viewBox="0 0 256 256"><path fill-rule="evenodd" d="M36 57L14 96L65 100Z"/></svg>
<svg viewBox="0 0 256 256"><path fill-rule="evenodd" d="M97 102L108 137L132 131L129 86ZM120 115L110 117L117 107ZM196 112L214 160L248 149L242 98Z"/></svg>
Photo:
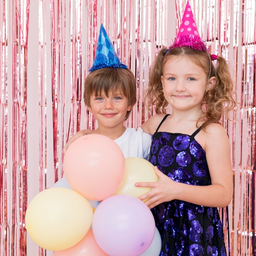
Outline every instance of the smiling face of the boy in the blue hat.
<svg viewBox="0 0 256 256"><path fill-rule="evenodd" d="M90 96L88 110L94 115L99 126L116 127L124 125L127 111L132 109L128 105L128 99L120 92L109 92L108 97L104 92L100 95Z"/></svg>

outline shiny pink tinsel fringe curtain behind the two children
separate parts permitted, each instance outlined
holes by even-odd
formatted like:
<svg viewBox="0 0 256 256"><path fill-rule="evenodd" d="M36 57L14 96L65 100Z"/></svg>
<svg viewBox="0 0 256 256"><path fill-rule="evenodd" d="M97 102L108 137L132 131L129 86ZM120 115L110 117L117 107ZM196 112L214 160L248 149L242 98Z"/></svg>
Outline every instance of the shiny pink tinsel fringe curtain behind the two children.
<svg viewBox="0 0 256 256"><path fill-rule="evenodd" d="M189 2L211 53L229 61L240 103L236 121L223 120L234 169L229 214L220 209L227 247L230 238L231 255L256 255L256 2ZM63 176L68 138L97 126L82 95L100 24L137 77L138 103L126 121L137 128L148 116L150 63L172 43L185 6L186 0L0 0L0 256L53 253L29 238L25 211Z"/></svg>

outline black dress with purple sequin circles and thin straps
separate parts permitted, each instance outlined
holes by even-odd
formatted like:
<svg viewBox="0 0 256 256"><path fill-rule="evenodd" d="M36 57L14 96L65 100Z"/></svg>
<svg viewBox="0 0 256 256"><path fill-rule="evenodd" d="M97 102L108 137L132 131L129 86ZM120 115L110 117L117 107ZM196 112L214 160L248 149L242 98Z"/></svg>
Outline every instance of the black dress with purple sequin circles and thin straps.
<svg viewBox="0 0 256 256"><path fill-rule="evenodd" d="M163 121L168 115L164 117ZM149 161L175 182L207 186L211 177L205 152L193 135L156 132ZM216 207L172 200L152 209L162 238L159 256L227 255L222 222Z"/></svg>

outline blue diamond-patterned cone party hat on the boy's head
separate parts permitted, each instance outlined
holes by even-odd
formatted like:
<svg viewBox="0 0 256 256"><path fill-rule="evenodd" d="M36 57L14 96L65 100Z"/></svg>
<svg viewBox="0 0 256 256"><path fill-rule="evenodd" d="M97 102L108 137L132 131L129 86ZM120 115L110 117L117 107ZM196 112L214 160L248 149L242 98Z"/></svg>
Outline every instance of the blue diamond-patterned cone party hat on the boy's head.
<svg viewBox="0 0 256 256"><path fill-rule="evenodd" d="M106 30L101 24L94 62L89 71L92 72L103 67L127 68L119 60Z"/></svg>

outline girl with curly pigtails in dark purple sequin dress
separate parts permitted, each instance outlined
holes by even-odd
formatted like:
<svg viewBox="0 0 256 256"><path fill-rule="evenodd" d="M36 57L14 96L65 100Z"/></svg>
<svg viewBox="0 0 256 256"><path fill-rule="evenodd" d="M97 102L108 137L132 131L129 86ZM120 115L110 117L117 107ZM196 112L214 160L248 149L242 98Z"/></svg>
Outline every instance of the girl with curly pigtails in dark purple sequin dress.
<svg viewBox="0 0 256 256"><path fill-rule="evenodd" d="M157 115L141 128L153 135L149 161L159 181L135 185L151 188L139 199L149 198L160 256L227 255L217 208L233 194L230 144L220 124L235 107L232 89L225 59L209 54L195 35L177 36L153 63L146 98Z"/></svg>

